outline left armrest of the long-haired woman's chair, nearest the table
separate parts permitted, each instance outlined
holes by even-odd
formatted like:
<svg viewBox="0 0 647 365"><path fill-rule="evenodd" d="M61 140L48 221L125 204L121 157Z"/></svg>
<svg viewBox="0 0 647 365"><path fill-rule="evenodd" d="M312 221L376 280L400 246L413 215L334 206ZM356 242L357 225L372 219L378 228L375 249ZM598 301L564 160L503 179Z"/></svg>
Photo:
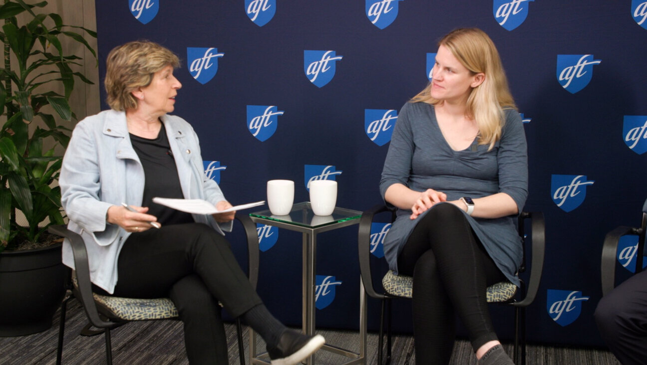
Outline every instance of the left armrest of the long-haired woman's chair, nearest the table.
<svg viewBox="0 0 647 365"><path fill-rule="evenodd" d="M357 250L360 260L362 284L364 284L364 289L369 297L377 299L389 298L390 296L384 293L378 293L375 291L375 287L373 287L373 279L371 276L371 224L373 223L375 214L385 211L389 211L389 209L384 204L375 205L375 207L364 211L362 218L360 218L360 227L357 234Z"/></svg>

